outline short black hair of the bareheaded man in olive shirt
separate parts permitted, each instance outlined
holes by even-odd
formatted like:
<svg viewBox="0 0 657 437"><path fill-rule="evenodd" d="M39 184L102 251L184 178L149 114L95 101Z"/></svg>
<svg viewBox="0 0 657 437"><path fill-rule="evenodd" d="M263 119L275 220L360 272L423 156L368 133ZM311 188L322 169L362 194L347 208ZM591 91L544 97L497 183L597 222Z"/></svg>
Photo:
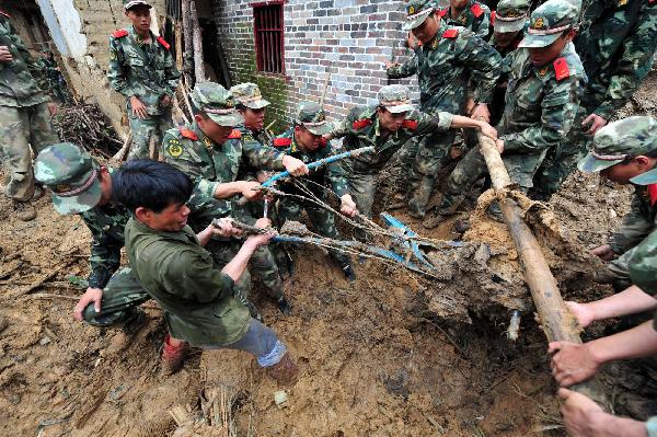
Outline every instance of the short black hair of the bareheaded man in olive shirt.
<svg viewBox="0 0 657 437"><path fill-rule="evenodd" d="M187 203L193 189L185 173L150 159L128 161L112 176L114 197L131 212L139 207L162 212L171 205Z"/></svg>

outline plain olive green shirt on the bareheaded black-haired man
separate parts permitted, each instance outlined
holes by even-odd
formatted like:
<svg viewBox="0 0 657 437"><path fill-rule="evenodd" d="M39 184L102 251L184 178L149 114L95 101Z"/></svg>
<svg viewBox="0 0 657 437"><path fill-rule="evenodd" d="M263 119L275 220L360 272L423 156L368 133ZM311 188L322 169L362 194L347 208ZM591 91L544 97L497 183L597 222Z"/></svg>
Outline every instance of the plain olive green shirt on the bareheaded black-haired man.
<svg viewBox="0 0 657 437"><path fill-rule="evenodd" d="M221 346L244 336L249 310L189 227L162 232L131 218L126 252L135 277L164 310L172 336L195 346Z"/></svg>

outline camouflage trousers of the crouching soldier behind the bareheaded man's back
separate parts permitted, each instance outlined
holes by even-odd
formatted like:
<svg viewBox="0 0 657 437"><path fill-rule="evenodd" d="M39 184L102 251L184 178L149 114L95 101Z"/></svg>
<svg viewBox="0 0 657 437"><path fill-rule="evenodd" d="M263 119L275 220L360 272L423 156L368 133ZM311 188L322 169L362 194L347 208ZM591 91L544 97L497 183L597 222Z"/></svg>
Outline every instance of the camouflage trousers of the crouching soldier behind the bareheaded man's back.
<svg viewBox="0 0 657 437"><path fill-rule="evenodd" d="M82 312L84 321L99 327L125 325L137 314L137 307L150 299L141 284L132 275L130 267L120 268L103 289L101 312L95 312L93 303Z"/></svg>

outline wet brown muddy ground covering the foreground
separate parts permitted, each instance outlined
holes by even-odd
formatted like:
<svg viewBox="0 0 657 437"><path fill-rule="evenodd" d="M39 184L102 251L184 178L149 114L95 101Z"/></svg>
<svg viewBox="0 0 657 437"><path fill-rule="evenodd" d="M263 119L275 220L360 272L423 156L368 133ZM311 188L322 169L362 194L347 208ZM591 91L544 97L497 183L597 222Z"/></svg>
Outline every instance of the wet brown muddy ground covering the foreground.
<svg viewBox="0 0 657 437"><path fill-rule="evenodd" d="M653 110L652 82L654 76L627 113ZM575 174L549 204L555 221L537 230L566 298L611 292L588 278L599 264L586 249L618 228L630 197L629 188ZM165 327L152 302L148 324L131 338L74 322L82 289L70 277L88 273L90 234L78 218L57 215L47 197L37 206L36 220L20 222L0 199L2 436L564 435L545 340L503 225L473 222L464 235L470 252L438 254L446 263L440 279L368 261L356 266L351 285L321 250L296 250L296 272L286 280L293 314L281 317L254 296L300 365L299 381L277 405L283 388L244 353L193 350L184 370L160 376ZM451 221L427 232L395 216L429 238L463 237ZM481 242L489 248L483 263ZM522 310L517 342L505 334L512 309ZM650 396L650 375L626 365L603 373L622 413L645 414L632 405ZM224 395L223 409L206 402L212 393ZM169 414L175 406L193 417L223 412L234 434L177 427Z"/></svg>

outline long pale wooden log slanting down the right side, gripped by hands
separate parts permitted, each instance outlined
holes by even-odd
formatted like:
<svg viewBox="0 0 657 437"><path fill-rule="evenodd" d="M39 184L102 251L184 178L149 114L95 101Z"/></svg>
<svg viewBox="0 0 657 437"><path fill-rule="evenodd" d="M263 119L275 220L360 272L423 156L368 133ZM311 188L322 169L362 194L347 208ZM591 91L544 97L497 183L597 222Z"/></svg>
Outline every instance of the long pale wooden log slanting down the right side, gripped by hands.
<svg viewBox="0 0 657 437"><path fill-rule="evenodd" d="M508 187L511 185L511 180L495 141L481 133L477 135L493 187L496 191ZM550 265L548 265L545 256L543 256L541 245L522 219L520 208L515 200L508 197L499 202L499 207L518 251L520 266L525 273L525 280L531 290L531 297L537 307L537 312L541 319L543 332L548 341L581 343L577 321L564 303L556 279L550 271ZM597 378L576 384L572 389L586 394L607 407L607 410L610 410L602 384Z"/></svg>

